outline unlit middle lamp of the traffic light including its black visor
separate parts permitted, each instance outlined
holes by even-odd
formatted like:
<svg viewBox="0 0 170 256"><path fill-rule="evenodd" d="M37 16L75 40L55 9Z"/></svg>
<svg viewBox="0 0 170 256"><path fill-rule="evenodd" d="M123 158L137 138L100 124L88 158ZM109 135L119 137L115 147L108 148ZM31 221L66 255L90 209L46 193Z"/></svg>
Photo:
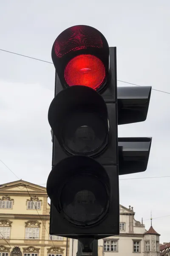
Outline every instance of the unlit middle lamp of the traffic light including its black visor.
<svg viewBox="0 0 170 256"><path fill-rule="evenodd" d="M70 154L92 156L108 143L108 110L102 96L85 86L62 90L51 102L48 121Z"/></svg>

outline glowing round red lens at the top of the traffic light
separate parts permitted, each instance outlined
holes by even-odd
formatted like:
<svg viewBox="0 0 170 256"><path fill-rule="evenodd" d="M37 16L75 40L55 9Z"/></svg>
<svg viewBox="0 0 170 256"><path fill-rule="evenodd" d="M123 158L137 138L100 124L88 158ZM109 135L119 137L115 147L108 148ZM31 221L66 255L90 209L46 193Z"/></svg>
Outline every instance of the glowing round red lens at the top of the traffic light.
<svg viewBox="0 0 170 256"><path fill-rule="evenodd" d="M94 55L81 54L72 58L65 67L68 86L84 85L97 90L106 76L105 65Z"/></svg>

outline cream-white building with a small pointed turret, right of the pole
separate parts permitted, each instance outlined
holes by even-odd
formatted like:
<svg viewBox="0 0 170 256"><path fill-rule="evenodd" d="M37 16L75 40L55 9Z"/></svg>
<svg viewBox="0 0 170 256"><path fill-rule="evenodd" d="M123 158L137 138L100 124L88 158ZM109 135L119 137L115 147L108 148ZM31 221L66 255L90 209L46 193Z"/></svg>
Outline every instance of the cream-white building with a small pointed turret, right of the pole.
<svg viewBox="0 0 170 256"><path fill-rule="evenodd" d="M151 226L147 231L143 221L136 221L133 207L120 205L120 235L100 239L99 256L160 256L159 234ZM77 240L70 239L70 255L76 256Z"/></svg>

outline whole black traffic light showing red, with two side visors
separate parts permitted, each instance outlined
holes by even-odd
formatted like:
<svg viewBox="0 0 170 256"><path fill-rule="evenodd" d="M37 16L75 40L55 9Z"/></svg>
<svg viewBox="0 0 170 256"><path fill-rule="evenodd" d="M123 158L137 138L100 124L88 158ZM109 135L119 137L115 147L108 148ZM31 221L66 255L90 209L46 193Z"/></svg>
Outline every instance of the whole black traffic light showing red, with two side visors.
<svg viewBox="0 0 170 256"><path fill-rule="evenodd" d="M50 234L118 235L119 174L145 171L151 144L151 138L118 138L118 125L146 119L151 87L117 88L116 47L91 26L63 31L51 55Z"/></svg>

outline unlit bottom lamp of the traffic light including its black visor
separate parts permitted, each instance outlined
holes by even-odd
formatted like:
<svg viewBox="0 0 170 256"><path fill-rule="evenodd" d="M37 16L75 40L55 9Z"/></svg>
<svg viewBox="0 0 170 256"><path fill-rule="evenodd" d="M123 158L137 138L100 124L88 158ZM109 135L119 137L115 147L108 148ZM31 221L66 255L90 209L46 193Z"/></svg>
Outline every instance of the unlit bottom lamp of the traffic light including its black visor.
<svg viewBox="0 0 170 256"><path fill-rule="evenodd" d="M64 218L73 224L88 226L100 221L108 210L109 177L94 159L69 157L52 169L47 193Z"/></svg>

